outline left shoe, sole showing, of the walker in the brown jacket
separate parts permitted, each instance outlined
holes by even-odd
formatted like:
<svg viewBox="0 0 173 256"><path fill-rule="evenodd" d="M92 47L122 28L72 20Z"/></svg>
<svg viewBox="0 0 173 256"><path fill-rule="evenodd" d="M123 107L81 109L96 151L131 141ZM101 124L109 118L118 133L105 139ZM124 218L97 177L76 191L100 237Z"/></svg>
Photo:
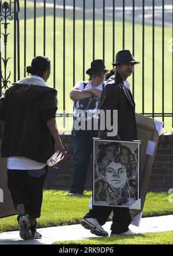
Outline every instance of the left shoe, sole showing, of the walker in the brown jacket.
<svg viewBox="0 0 173 256"><path fill-rule="evenodd" d="M29 218L25 213L21 213L17 216L19 235L21 239L28 240L32 239L32 233L29 228Z"/></svg>

